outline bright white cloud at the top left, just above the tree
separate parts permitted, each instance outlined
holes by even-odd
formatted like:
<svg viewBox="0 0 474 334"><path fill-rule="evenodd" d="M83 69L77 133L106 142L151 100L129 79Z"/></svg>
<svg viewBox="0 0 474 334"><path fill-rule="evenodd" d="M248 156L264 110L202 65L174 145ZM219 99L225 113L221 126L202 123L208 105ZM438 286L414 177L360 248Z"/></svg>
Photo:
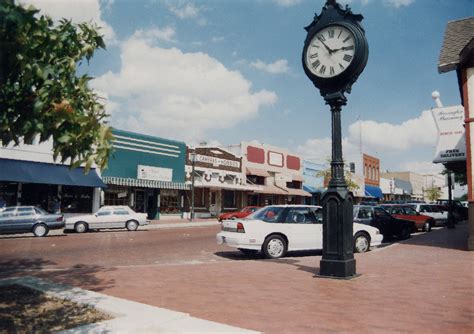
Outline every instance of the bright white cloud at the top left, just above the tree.
<svg viewBox="0 0 474 334"><path fill-rule="evenodd" d="M100 33L104 35L106 44L116 43L114 30L102 19L99 0L20 0L19 2L23 5L35 6L41 10L40 14L49 15L56 21L66 18L74 23L92 22L101 27ZM105 6L110 6L110 4L111 2L107 2Z"/></svg>

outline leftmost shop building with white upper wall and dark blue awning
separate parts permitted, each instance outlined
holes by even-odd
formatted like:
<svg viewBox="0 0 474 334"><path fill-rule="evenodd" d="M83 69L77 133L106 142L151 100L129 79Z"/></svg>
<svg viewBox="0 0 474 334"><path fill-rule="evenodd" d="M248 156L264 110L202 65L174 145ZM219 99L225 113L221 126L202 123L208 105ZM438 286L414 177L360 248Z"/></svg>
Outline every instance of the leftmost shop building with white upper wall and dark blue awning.
<svg viewBox="0 0 474 334"><path fill-rule="evenodd" d="M70 169L54 161L52 140L0 147L0 200L6 206L35 205L49 212L91 213L105 187L95 168Z"/></svg>

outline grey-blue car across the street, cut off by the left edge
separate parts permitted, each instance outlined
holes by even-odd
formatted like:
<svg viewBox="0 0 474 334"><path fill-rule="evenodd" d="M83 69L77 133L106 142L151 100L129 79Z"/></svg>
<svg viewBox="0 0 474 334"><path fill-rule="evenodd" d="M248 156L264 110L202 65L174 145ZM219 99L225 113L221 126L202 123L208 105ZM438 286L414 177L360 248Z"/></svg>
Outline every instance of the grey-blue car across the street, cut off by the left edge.
<svg viewBox="0 0 474 334"><path fill-rule="evenodd" d="M62 214L49 214L34 206L9 206L0 213L0 233L33 233L44 237L49 230L62 229Z"/></svg>

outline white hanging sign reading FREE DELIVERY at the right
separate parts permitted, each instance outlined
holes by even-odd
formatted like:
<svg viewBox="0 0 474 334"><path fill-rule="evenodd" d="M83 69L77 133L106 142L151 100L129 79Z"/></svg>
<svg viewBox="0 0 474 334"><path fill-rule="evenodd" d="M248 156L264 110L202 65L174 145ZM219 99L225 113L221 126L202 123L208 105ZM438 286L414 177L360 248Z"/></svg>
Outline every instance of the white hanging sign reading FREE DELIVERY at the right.
<svg viewBox="0 0 474 334"><path fill-rule="evenodd" d="M431 109L438 129L434 163L466 160L464 107L451 106Z"/></svg>

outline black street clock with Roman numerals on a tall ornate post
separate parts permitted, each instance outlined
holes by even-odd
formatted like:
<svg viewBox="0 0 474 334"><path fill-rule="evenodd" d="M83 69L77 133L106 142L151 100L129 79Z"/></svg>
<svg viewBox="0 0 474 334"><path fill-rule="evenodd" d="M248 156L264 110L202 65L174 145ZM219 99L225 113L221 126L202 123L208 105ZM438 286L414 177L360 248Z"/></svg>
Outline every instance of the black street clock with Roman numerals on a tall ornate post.
<svg viewBox="0 0 474 334"><path fill-rule="evenodd" d="M356 276L353 238L353 196L344 179L341 108L344 94L365 68L368 44L360 25L362 15L327 0L321 14L305 29L303 69L320 90L332 115L331 180L322 198L323 256L319 277L349 279Z"/></svg>

